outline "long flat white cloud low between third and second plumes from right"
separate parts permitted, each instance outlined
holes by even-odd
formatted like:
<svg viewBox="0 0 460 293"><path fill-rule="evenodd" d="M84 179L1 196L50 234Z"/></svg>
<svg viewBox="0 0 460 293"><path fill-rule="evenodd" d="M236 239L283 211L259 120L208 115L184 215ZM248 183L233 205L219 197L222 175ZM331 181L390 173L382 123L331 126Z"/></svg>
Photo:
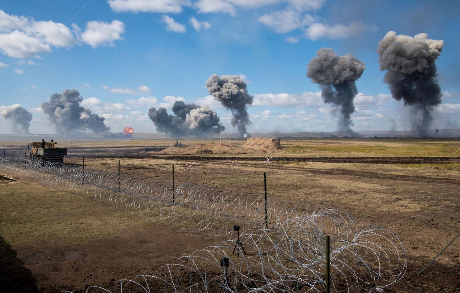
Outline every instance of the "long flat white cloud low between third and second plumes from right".
<svg viewBox="0 0 460 293"><path fill-rule="evenodd" d="M321 92L305 92L295 94L255 94L253 106L272 107L309 107L316 108L322 105Z"/></svg>

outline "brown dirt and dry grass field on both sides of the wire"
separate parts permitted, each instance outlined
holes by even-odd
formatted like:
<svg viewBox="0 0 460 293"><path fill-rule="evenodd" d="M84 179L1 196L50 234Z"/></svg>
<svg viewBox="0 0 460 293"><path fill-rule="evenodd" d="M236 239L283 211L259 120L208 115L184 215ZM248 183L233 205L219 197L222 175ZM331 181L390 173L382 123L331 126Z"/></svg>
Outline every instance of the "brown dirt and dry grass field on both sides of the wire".
<svg viewBox="0 0 460 293"><path fill-rule="evenodd" d="M460 291L460 238L417 275L460 232L460 141L282 140L285 148L270 155L201 156L158 154L172 141L59 143L68 147L68 163L81 164L84 156L87 168L117 171L120 160L121 172L146 179L171 178L174 163L179 183L252 194L263 193L266 172L269 199L339 207L402 239L408 271L385 292ZM195 143L209 141L184 144ZM27 151L24 145L8 142L0 148L17 154ZM265 156L274 156L273 163L263 163ZM230 167L227 158L238 158L238 167ZM187 170L184 163L195 161L196 170ZM8 174L0 170L0 175ZM8 272L0 284L44 292L107 287L112 279L152 273L209 245L104 203L15 179L19 183L1 184L0 177L0 267Z"/></svg>

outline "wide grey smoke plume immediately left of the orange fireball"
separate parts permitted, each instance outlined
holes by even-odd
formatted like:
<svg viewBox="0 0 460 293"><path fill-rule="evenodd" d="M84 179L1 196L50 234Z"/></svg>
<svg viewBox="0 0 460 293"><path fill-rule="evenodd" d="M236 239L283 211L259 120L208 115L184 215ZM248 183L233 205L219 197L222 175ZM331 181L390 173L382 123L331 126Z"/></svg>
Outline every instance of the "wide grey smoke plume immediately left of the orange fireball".
<svg viewBox="0 0 460 293"><path fill-rule="evenodd" d="M102 134L110 127L104 123L105 118L93 114L89 108L81 107L83 98L78 90L64 90L61 94L52 94L50 101L43 102L41 108L54 124L57 133L75 134L92 130Z"/></svg>

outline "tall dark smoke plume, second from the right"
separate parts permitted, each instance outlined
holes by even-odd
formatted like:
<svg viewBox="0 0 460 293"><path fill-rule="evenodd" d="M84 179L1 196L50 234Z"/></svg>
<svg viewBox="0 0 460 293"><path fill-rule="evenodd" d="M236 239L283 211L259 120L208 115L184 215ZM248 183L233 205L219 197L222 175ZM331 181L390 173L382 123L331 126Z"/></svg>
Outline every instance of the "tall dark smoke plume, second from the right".
<svg viewBox="0 0 460 293"><path fill-rule="evenodd" d="M316 51L316 57L307 66L307 77L321 88L325 103L332 103L340 110L339 130L354 134L351 130L351 113L355 112L353 99L358 93L355 81L366 67L351 53L337 56L330 48Z"/></svg>

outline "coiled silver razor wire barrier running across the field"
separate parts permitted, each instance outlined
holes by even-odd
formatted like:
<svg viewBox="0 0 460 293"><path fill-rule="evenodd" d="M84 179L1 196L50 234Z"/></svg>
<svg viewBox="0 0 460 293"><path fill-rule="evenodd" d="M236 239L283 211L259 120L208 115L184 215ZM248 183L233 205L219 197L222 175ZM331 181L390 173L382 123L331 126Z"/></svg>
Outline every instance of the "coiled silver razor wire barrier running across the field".
<svg viewBox="0 0 460 293"><path fill-rule="evenodd" d="M406 250L396 235L376 225L362 225L338 208L274 199L267 203L265 214L263 195L190 183L174 189L171 181L27 158L1 158L0 166L59 190L134 208L144 217L204 237L230 238L234 225L241 225L238 240L196 250L151 276L119 280L107 289L90 286L87 293L159 292L159 288L180 293L323 292L326 235L331 237L332 292L381 292L407 269ZM221 266L222 259L228 265Z"/></svg>

